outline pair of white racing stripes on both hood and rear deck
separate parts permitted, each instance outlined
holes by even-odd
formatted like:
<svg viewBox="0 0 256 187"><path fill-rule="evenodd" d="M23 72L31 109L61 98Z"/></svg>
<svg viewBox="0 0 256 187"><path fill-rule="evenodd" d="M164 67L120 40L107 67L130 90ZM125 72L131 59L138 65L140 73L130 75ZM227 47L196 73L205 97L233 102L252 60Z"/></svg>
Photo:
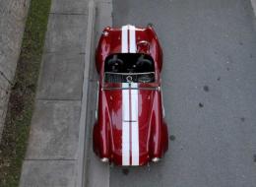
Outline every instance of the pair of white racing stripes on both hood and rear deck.
<svg viewBox="0 0 256 187"><path fill-rule="evenodd" d="M129 31L129 32L128 32ZM128 34L129 46L128 47ZM129 49L128 49L129 48ZM136 29L134 26L122 27L122 53L136 53ZM122 165L139 165L139 122L138 122L138 84L122 83ZM131 105L130 105L131 104ZM130 113L131 111L131 113ZM131 129L131 131L130 131ZM131 137L131 140L130 140ZM130 163L130 153L132 162Z"/></svg>

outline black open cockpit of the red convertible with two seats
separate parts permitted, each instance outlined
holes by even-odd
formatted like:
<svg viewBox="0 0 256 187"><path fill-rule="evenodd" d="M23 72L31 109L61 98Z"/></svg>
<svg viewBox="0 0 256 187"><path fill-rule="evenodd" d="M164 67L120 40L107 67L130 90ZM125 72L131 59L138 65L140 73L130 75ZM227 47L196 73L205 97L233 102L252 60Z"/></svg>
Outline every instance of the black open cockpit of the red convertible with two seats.
<svg viewBox="0 0 256 187"><path fill-rule="evenodd" d="M111 54L104 63L105 83L153 83L155 65L150 55L141 53Z"/></svg>

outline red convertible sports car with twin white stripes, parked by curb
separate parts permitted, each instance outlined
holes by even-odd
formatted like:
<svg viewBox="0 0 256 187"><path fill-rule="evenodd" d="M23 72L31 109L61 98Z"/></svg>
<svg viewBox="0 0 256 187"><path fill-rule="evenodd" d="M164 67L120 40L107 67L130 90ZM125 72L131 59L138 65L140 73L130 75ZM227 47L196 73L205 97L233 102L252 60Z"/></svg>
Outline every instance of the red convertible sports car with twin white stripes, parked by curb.
<svg viewBox="0 0 256 187"><path fill-rule="evenodd" d="M99 74L94 151L103 162L144 165L168 149L160 71L152 27L107 27L96 48Z"/></svg>

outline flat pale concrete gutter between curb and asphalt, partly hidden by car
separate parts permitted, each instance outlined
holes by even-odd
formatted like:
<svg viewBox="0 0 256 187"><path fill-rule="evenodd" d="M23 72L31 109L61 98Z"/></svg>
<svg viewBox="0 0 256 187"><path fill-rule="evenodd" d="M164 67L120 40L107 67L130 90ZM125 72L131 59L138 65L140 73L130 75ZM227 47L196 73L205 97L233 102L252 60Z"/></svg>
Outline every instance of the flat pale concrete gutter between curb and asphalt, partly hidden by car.
<svg viewBox="0 0 256 187"><path fill-rule="evenodd" d="M96 3L96 20L95 20L95 35L94 42L97 45L98 39L101 36L101 32L107 26L112 26L112 1L111 0L95 0ZM87 124L90 126L89 130L89 150L87 157L87 177L86 185L87 187L96 186L109 186L110 178L110 168L108 163L102 163L99 157L93 152L93 127L95 123L95 111L96 111L96 93L97 87L96 82L98 80L98 74L96 72L95 65L93 64L90 69L90 88L89 88L89 98L88 98L88 116ZM98 177L100 176L100 177Z"/></svg>

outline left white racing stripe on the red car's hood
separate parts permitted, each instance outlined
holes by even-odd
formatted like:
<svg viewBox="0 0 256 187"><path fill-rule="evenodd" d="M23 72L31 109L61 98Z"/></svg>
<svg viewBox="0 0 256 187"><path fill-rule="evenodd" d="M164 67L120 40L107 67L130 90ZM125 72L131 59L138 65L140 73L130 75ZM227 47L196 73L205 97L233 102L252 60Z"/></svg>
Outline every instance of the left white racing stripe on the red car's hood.
<svg viewBox="0 0 256 187"><path fill-rule="evenodd" d="M122 84L122 165L130 165L130 104L129 104L129 88L127 83Z"/></svg>

